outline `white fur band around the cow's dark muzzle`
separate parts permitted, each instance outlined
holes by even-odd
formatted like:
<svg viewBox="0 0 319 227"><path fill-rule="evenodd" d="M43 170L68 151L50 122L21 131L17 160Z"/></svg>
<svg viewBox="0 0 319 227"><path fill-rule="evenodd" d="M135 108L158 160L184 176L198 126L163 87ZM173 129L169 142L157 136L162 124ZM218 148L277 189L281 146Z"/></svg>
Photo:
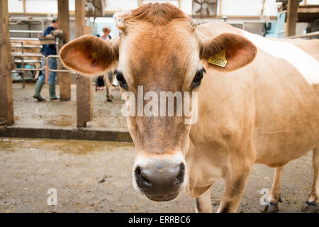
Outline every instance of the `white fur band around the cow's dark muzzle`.
<svg viewBox="0 0 319 227"><path fill-rule="evenodd" d="M179 153L175 153L174 155L164 155L161 158L155 158L155 157L146 157L146 156L140 156L137 157L135 159L134 162L134 166L133 166L133 171L132 171L132 175L133 175L133 187L137 192L141 192L140 188L138 187L138 184L136 183L136 179L135 179L135 169L136 167L140 166L146 166L146 165L152 165L152 163L156 162L157 160L169 160L169 162L172 165L179 165L181 163L184 164L185 166L185 172L184 172L184 181L181 184L181 189L183 189L184 187L186 187L186 184L188 183L188 175L187 175L187 165L185 162L185 157L183 155L183 153L179 152Z"/></svg>

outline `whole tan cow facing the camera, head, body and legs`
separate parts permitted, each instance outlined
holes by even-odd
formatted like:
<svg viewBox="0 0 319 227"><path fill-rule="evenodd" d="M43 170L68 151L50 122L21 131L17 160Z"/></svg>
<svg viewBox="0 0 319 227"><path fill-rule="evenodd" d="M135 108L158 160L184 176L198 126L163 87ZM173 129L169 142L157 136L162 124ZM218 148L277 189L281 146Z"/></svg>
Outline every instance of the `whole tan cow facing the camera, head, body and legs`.
<svg viewBox="0 0 319 227"><path fill-rule="evenodd" d="M142 94L198 92L198 101L191 101L191 118L198 106L192 125L184 123L186 115L128 116L135 189L168 201L186 185L197 210L206 212L212 210L209 189L222 177L218 211L234 212L257 162L276 168L268 210L276 211L284 165L313 149L307 204L318 207L318 40L267 40L225 23L196 28L170 4L143 5L121 16L117 26L121 38L113 43L90 36L68 43L60 52L64 64L99 74L118 63L121 92L135 96L138 86ZM224 55L227 65L208 63L216 55ZM133 114L133 106L150 103L125 100Z"/></svg>

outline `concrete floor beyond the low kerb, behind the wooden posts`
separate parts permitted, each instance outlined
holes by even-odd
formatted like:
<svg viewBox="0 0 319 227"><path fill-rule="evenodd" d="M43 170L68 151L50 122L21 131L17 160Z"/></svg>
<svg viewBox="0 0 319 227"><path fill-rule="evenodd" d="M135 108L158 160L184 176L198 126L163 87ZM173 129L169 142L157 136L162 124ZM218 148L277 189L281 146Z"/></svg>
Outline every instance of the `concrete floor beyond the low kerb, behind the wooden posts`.
<svg viewBox="0 0 319 227"><path fill-rule="evenodd" d="M50 101L48 84L41 96L46 101L33 99L35 84L13 84L15 126L26 128L74 128L77 126L77 87L71 85L71 101ZM59 95L59 85L56 86ZM126 118L121 114L124 101L121 93L113 90L113 102L106 101L106 91L93 91L93 121L86 128L109 131L127 131Z"/></svg>

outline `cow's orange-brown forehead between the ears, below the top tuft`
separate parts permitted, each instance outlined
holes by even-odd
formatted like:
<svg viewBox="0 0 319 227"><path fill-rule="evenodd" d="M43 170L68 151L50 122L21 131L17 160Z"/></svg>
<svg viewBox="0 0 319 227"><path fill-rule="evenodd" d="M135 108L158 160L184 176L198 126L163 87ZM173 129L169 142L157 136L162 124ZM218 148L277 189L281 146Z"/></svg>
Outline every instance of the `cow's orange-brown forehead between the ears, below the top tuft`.
<svg viewBox="0 0 319 227"><path fill-rule="evenodd" d="M178 24L179 23L179 26ZM162 88L181 89L184 77L198 67L196 34L177 22L155 27L134 25L123 34L120 66L135 84L159 84ZM188 26L190 26L188 24Z"/></svg>

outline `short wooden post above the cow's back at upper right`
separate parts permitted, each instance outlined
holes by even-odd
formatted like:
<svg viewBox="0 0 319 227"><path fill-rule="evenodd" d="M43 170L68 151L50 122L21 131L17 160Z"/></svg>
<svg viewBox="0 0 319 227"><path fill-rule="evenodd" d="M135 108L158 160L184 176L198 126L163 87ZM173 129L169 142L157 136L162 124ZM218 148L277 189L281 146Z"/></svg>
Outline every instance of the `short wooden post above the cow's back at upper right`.
<svg viewBox="0 0 319 227"><path fill-rule="evenodd" d="M286 37L296 35L299 0L288 0Z"/></svg>

